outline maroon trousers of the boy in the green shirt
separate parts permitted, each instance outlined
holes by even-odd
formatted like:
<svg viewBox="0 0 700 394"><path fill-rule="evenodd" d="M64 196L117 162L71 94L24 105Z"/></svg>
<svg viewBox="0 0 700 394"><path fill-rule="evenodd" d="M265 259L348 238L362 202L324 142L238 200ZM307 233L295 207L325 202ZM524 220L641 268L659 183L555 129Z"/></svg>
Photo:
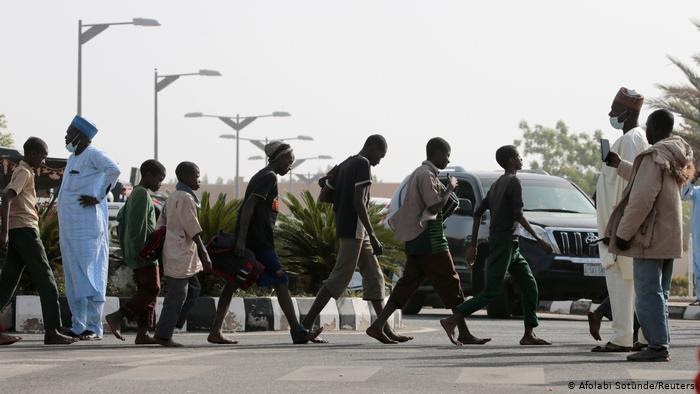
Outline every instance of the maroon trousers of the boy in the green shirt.
<svg viewBox="0 0 700 394"><path fill-rule="evenodd" d="M136 294L121 308L121 313L128 319L136 319L139 328L153 330L156 326L156 301L160 293L158 266L135 269L134 281Z"/></svg>

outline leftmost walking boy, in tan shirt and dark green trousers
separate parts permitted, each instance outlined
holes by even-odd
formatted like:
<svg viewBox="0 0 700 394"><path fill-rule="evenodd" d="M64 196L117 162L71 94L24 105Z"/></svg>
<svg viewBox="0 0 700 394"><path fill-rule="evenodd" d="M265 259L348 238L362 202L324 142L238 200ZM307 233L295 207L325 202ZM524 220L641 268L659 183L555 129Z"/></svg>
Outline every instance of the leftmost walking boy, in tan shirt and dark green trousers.
<svg viewBox="0 0 700 394"><path fill-rule="evenodd" d="M44 344L68 345L77 339L58 332L61 313L53 271L39 237L34 171L48 155L48 146L36 137L24 143L24 160L12 173L2 199L0 249L7 247L7 260L0 271L0 310L10 303L22 273L26 269L39 291L44 318ZM11 345L22 338L0 334L0 345Z"/></svg>

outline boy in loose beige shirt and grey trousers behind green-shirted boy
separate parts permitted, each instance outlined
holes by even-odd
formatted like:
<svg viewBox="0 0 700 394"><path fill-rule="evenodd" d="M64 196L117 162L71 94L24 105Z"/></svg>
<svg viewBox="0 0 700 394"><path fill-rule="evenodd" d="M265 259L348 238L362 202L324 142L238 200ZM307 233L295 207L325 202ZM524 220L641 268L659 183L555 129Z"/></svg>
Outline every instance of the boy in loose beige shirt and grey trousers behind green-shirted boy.
<svg viewBox="0 0 700 394"><path fill-rule="evenodd" d="M167 226L163 244L163 273L168 289L163 310L156 326L155 341L166 347L182 347L174 342L175 326L184 323L194 306L201 286L197 274L211 271L211 260L202 241L197 209L199 199L199 167L183 161L175 169L177 186L168 197L158 224Z"/></svg>

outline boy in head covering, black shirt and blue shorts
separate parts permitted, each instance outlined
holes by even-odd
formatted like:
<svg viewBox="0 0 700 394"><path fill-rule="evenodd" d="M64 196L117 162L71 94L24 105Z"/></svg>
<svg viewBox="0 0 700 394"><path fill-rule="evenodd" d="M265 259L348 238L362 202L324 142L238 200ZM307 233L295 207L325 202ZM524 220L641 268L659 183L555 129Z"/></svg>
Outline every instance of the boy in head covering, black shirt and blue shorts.
<svg viewBox="0 0 700 394"><path fill-rule="evenodd" d="M292 163L294 163L294 152L288 144L273 141L265 146L265 154L268 158L268 165L250 179L243 198L243 205L238 213L235 253L241 257L245 255L246 249L255 253L256 259L265 266L257 285L275 289L280 308L282 308L282 312L284 312L291 327L292 341L306 343L318 336L320 330L312 333L299 324L287 287L287 274L280 265L273 238L273 228L279 210L277 175L284 176L289 172ZM237 288L237 284L227 283L221 292L214 324L208 338L211 343L236 343L224 337L221 329L228 313L231 297Z"/></svg>

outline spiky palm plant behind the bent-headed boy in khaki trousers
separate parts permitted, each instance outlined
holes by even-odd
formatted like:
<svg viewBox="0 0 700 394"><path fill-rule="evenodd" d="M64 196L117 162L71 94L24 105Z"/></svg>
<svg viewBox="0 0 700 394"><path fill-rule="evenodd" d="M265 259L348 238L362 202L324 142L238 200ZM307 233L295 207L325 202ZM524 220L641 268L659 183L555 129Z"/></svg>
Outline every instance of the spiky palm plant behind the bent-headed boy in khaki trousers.
<svg viewBox="0 0 700 394"><path fill-rule="evenodd" d="M309 191L298 198L287 194L284 199L290 213L280 215L276 231L279 254L287 268L309 277L308 293L316 293L328 277L340 245L335 234L333 206L318 203ZM385 272L396 272L400 258L400 244L393 234L380 225L379 207L370 208L370 220L377 237L384 245L379 262Z"/></svg>

